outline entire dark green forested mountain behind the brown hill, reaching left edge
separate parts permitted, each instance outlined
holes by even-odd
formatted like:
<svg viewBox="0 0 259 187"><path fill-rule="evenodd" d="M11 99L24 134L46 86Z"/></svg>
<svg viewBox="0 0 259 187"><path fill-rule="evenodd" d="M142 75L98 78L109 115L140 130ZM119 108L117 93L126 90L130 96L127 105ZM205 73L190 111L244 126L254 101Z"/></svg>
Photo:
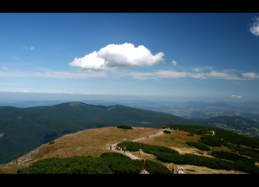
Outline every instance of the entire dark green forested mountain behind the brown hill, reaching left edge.
<svg viewBox="0 0 259 187"><path fill-rule="evenodd" d="M205 125L162 112L121 105L105 107L82 102L54 106L0 107L0 164L68 133L126 124L160 128L165 124Z"/></svg>

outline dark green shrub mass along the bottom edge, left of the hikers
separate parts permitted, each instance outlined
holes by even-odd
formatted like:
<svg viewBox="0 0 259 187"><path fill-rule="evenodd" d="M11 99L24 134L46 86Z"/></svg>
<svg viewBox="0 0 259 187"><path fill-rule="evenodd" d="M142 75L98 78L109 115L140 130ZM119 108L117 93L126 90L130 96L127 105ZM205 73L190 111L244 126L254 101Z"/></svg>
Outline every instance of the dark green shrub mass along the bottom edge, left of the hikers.
<svg viewBox="0 0 259 187"><path fill-rule="evenodd" d="M100 157L73 156L48 158L29 167L19 169L18 174L138 174L144 160L132 160L121 153L103 153ZM150 174L171 174L164 165L146 160L145 170Z"/></svg>

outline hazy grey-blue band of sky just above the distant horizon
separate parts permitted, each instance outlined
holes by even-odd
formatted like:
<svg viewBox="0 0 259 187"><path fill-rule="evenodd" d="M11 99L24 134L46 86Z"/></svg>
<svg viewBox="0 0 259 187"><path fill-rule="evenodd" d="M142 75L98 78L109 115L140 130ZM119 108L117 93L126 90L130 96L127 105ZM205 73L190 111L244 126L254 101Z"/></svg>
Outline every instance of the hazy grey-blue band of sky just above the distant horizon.
<svg viewBox="0 0 259 187"><path fill-rule="evenodd" d="M61 101L87 101L87 100L149 100L149 101L171 101L171 102L188 102L188 101L206 101L206 102L259 102L259 99L243 98L206 98L206 97L159 97L145 95L92 95L92 94L74 94L74 93L37 93L37 92L2 92L0 91L0 101L33 101L33 100L61 100Z"/></svg>

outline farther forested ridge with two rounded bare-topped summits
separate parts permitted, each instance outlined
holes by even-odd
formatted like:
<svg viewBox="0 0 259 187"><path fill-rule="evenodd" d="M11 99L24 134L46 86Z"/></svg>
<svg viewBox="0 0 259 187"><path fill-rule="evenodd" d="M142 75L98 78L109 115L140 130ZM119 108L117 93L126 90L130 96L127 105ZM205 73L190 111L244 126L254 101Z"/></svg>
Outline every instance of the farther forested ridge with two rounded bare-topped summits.
<svg viewBox="0 0 259 187"><path fill-rule="evenodd" d="M128 106L95 106L82 102L62 103L54 106L26 108L34 113L47 114L71 120L103 120L143 127L160 128L164 124L206 125L204 122L188 120L172 114Z"/></svg>

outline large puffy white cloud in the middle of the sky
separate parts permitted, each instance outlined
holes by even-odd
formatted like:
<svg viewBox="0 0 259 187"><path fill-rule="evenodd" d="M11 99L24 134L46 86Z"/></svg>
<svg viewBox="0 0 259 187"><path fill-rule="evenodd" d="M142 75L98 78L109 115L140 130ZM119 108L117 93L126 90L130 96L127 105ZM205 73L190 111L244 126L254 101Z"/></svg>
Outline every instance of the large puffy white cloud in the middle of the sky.
<svg viewBox="0 0 259 187"><path fill-rule="evenodd" d="M110 44L82 58L75 58L69 66L80 67L81 70L112 70L133 67L152 66L164 61L163 52L155 55L144 45L134 47L131 43Z"/></svg>

